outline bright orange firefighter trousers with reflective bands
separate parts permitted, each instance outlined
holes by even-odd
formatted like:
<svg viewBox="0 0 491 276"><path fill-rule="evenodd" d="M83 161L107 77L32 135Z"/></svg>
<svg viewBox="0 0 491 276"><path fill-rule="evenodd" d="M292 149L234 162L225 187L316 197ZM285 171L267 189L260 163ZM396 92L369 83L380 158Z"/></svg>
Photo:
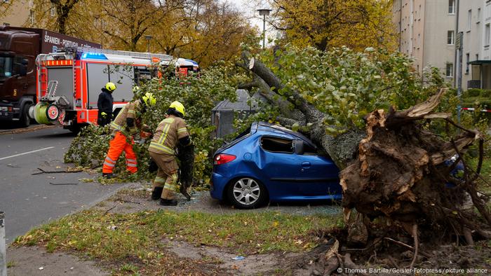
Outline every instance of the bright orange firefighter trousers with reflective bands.
<svg viewBox="0 0 491 276"><path fill-rule="evenodd" d="M130 139L131 143L128 143L126 136L121 132L116 132L111 142L109 142L109 151L107 151L104 165L102 165L102 173L112 173L116 162L121 156L123 151L126 153L126 170L130 173L137 172L136 154L133 151L133 138Z"/></svg>

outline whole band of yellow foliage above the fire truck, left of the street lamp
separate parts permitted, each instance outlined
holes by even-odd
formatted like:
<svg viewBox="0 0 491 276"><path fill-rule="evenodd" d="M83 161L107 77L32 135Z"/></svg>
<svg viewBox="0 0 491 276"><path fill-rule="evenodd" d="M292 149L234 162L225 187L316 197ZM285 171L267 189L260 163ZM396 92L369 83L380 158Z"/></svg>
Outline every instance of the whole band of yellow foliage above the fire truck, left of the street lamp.
<svg viewBox="0 0 491 276"><path fill-rule="evenodd" d="M104 48L166 53L207 67L231 60L253 34L248 20L219 0L34 0L34 22ZM146 36L152 36L147 40Z"/></svg>

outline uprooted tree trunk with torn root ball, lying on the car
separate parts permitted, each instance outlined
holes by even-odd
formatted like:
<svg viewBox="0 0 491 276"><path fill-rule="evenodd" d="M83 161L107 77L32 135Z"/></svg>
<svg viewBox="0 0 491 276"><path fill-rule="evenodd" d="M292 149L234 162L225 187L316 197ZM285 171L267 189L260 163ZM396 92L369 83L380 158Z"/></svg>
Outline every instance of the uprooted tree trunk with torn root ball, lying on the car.
<svg viewBox="0 0 491 276"><path fill-rule="evenodd" d="M332 136L325 132L326 114L309 104L299 92L285 89L281 80L262 62L248 60L247 55L243 55L243 60L255 78L262 78L271 88L264 88L264 83L258 86L265 91L267 99L274 99L271 103L276 106L278 101L283 102L283 106L290 103L303 114L302 118L285 114L287 118L280 118L280 121L307 126L303 131L342 169L342 206L349 228L348 243L365 245L373 240L370 236L375 234L370 233L368 224L373 219L383 218L389 225L399 226L412 236L415 243L412 267L417 261L420 240L453 230L455 235L465 235L467 242L472 243L472 233L487 233L484 229L491 226L491 216L485 201L478 196L475 182L482 165L482 147L477 170L473 172L465 165L464 177L457 179L451 175L464 151L473 142L482 145L483 137L476 130L466 130L452 122L450 114L433 112L445 90L403 111L372 111L365 116L366 130L347 127L342 134ZM424 128L422 122L429 120L445 120L448 125L462 130L462 134L445 141ZM450 133L448 137L452 137ZM445 164L452 156L457 156L455 164ZM487 223L476 219L472 209L464 208L465 198L472 200ZM350 218L353 209L358 212L355 221ZM332 250L337 256L337 247L326 254L329 272L343 265ZM346 259L344 265L354 266L349 255Z"/></svg>

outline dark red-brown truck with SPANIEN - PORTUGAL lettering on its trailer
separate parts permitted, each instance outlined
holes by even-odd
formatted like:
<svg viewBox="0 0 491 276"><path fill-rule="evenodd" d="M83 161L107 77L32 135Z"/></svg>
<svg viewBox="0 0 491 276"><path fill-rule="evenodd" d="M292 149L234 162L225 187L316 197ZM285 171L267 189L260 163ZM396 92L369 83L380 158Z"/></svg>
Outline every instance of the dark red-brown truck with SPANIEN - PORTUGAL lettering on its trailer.
<svg viewBox="0 0 491 276"><path fill-rule="evenodd" d="M27 127L29 107L36 104L36 57L58 48L100 44L46 29L0 27L0 121L18 121Z"/></svg>

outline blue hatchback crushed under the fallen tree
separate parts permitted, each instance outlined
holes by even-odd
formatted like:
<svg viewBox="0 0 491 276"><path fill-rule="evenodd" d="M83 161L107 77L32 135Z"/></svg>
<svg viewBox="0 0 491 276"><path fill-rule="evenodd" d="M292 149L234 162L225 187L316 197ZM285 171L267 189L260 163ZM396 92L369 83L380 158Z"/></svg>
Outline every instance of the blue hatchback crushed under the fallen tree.
<svg viewBox="0 0 491 276"><path fill-rule="evenodd" d="M210 195L243 209L265 202L341 200L339 169L307 137L253 123L215 152Z"/></svg>

